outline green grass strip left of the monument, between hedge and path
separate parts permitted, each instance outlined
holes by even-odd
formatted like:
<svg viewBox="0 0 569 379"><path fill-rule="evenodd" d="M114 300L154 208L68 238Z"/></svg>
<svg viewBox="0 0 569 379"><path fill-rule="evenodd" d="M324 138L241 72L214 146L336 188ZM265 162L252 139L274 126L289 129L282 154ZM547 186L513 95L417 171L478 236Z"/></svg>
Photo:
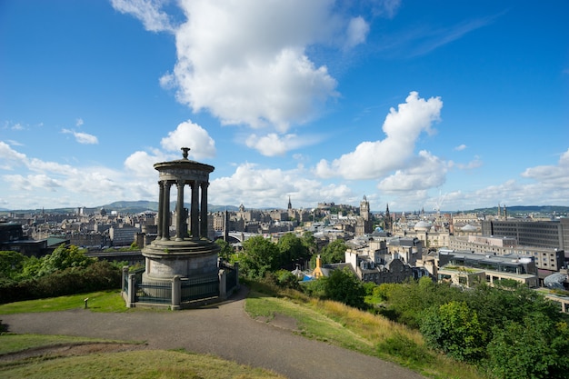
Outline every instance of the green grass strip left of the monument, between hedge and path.
<svg viewBox="0 0 569 379"><path fill-rule="evenodd" d="M129 309L126 308L120 292L112 290L0 304L0 314L57 312L85 308L85 298L89 299L87 306L92 312L126 312Z"/></svg>

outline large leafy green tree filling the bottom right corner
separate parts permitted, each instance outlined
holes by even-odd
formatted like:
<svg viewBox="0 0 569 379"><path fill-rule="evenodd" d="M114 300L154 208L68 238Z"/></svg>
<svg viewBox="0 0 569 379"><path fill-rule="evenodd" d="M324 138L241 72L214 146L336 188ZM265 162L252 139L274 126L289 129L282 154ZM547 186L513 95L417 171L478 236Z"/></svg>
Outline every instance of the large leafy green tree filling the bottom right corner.
<svg viewBox="0 0 569 379"><path fill-rule="evenodd" d="M534 313L521 322L508 320L494 327L488 344L489 371L504 379L566 378L569 372L567 324L554 324Z"/></svg>

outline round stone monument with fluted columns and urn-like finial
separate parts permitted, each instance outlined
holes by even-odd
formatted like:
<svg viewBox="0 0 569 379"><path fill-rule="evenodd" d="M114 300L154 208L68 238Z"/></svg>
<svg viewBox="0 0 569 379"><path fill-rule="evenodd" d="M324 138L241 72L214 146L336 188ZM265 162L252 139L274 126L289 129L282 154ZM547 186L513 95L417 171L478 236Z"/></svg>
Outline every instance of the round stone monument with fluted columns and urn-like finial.
<svg viewBox="0 0 569 379"><path fill-rule="evenodd" d="M145 283L164 283L175 277L217 277L219 273L219 245L208 239L207 231L207 187L214 166L189 160L189 150L188 147L182 147L182 159L154 165L159 173L160 186L158 233L156 239L142 249L145 256ZM191 191L189 212L184 207L186 185ZM177 189L177 198L175 228L171 231L172 186Z"/></svg>

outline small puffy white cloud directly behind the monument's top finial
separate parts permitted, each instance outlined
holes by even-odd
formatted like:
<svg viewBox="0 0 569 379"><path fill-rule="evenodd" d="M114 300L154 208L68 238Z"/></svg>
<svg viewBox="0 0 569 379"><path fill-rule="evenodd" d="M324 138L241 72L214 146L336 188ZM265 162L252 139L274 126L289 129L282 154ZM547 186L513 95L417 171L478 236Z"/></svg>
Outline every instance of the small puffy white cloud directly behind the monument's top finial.
<svg viewBox="0 0 569 379"><path fill-rule="evenodd" d="M174 132L169 132L168 136L162 138L160 145L167 151L176 152L180 152L182 147L189 147L189 155L195 159L215 156L214 139L202 126L190 120L178 125Z"/></svg>

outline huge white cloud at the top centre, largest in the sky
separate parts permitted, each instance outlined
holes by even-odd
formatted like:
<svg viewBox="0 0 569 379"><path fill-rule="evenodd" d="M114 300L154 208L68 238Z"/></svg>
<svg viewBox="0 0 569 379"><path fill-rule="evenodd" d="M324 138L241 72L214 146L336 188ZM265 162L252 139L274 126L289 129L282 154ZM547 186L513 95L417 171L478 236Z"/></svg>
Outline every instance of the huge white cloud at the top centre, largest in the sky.
<svg viewBox="0 0 569 379"><path fill-rule="evenodd" d="M175 86L178 100L195 112L284 133L336 96L326 67L304 53L307 45L334 40L347 23L332 15L333 2L180 4L188 19L175 32L178 61L161 83Z"/></svg>

